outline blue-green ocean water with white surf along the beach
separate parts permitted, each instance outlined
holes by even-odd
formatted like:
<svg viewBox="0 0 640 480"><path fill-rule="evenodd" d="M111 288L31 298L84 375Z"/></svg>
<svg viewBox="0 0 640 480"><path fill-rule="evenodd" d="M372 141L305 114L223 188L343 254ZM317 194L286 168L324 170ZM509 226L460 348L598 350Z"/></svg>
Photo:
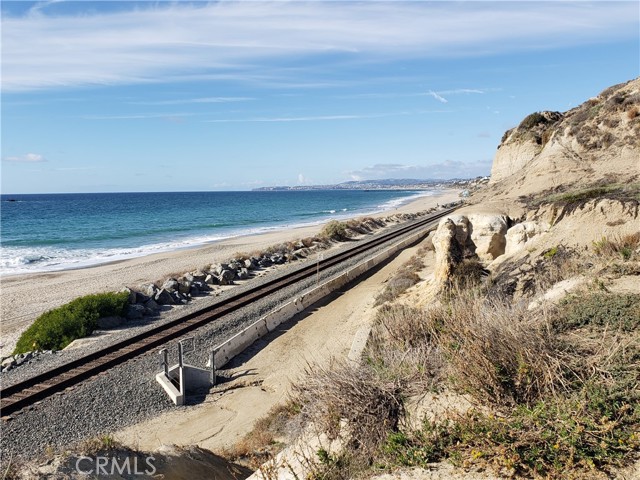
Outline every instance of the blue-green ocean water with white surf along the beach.
<svg viewBox="0 0 640 480"><path fill-rule="evenodd" d="M81 268L366 215L433 192L2 195L0 275Z"/></svg>

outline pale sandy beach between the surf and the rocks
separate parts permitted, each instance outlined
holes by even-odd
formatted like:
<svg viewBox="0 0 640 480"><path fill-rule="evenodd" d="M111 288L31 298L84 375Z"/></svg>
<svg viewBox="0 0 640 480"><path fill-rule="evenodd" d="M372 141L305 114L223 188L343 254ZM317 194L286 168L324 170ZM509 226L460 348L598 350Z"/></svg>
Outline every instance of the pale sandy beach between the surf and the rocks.
<svg viewBox="0 0 640 480"><path fill-rule="evenodd" d="M459 190L442 190L436 195L419 197L397 209L371 216L414 213L458 199ZM0 355L11 353L20 333L38 315L74 298L164 280L223 262L236 253L260 251L271 245L312 236L321 228L322 225L290 228L77 270L4 277L0 280Z"/></svg>

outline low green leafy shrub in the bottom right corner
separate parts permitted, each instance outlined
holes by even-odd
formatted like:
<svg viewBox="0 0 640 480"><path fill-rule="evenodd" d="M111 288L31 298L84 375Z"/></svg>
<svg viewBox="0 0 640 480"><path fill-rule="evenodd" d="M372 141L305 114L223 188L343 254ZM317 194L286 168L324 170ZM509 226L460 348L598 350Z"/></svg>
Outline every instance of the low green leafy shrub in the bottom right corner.
<svg viewBox="0 0 640 480"><path fill-rule="evenodd" d="M569 478L620 466L640 447L640 409L602 384L571 398L518 406L506 415L471 410L454 420L425 421L391 433L382 449L387 465L421 466L445 458L467 467L493 468L518 478ZM463 461L461 461L463 460Z"/></svg>

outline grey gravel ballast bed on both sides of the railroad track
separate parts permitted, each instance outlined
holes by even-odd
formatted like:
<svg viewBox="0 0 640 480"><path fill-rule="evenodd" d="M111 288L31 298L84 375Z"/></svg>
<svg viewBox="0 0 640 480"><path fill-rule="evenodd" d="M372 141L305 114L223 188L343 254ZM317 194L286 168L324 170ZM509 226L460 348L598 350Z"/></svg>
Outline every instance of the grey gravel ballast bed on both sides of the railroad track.
<svg viewBox="0 0 640 480"><path fill-rule="evenodd" d="M399 228L399 226L385 229L385 231L391 231L394 228ZM405 235L411 234L413 232ZM371 237L367 235L365 238ZM342 262L339 266L320 272L320 281L328 280L345 269L357 265L365 258L388 248L403 237L394 238L371 251ZM331 252L325 251L325 257L328 253L333 254L352 245L353 242L348 242ZM315 261L315 258L306 260L306 262L313 263ZM99 345L93 344L63 354L46 355L47 358L44 361L32 361L2 374L3 386L19 382L41 371L49 370L56 365L86 355L90 349L102 348L122 339L123 336L129 336L156 326L158 322L167 322L176 316L183 316L192 310L203 308L219 301L223 295L239 293L243 289L252 288L261 282L271 280L274 276L285 275L291 269L299 268L301 265L303 262L284 265L271 274L253 278L218 297L201 297L188 306L174 308L164 314L161 319L150 324L140 324L128 328L124 332L110 335L105 338L104 342L99 342ZM187 361L193 365L204 366L209 353L215 346L220 345L233 334L289 301L292 297L313 287L316 282L317 279L311 277L192 332L189 336L193 336L195 339L195 351L187 355ZM170 362L176 361L176 345L177 340L166 345L169 349ZM155 381L155 374L161 370L157 350L118 365L94 379L76 385L72 391L49 397L34 407L13 415L10 420L3 421L0 441L3 453L2 463L6 463L11 458L28 460L39 457L47 448L64 449L84 439L138 423L169 409L189 408L188 405L176 407Z"/></svg>

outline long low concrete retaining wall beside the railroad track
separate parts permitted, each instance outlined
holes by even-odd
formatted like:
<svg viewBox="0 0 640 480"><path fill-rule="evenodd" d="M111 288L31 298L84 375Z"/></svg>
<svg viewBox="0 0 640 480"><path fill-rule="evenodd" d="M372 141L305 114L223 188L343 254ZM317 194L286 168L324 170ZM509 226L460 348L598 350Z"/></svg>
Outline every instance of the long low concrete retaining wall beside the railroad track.
<svg viewBox="0 0 640 480"><path fill-rule="evenodd" d="M376 256L359 263L355 267L350 268L321 285L311 288L290 302L285 303L259 320L256 320L247 328L215 348L216 368L221 368L226 365L233 357L242 353L251 344L253 344L253 342L275 330L280 324L293 318L297 313L303 311L305 308L310 307L343 285L346 285L363 273L389 259L396 252L403 250L409 245L412 245L426 237L428 232L429 230L424 230L395 243L386 250L378 253Z"/></svg>

